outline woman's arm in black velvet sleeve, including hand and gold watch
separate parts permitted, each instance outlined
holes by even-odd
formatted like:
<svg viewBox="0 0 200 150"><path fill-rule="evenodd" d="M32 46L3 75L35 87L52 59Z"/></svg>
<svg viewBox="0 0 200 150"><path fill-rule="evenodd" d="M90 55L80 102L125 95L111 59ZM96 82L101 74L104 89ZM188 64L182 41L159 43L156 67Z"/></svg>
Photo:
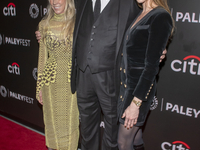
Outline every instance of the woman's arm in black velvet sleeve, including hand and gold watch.
<svg viewBox="0 0 200 150"><path fill-rule="evenodd" d="M155 77L159 71L160 58L162 57L163 49L166 47L171 29L172 20L168 13L157 15L150 26L145 56L145 68L133 92L133 99L137 102L142 103L142 101L146 101L148 98ZM122 116L122 118L126 117L124 126L127 128L133 127L137 123L138 116L139 107L132 101Z"/></svg>

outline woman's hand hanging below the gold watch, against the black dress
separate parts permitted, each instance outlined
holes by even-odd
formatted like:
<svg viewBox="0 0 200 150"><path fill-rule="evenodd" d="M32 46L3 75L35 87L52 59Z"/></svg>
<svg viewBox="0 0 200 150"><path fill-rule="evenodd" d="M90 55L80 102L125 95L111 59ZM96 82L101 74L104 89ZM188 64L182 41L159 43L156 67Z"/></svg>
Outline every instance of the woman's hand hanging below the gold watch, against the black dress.
<svg viewBox="0 0 200 150"><path fill-rule="evenodd" d="M142 102L136 97L134 97L134 99L136 101ZM133 125L137 123L138 116L139 116L139 107L136 106L135 103L131 102L131 104L126 108L126 110L122 115L122 118L125 117L124 126L127 127L127 129L132 128Z"/></svg>

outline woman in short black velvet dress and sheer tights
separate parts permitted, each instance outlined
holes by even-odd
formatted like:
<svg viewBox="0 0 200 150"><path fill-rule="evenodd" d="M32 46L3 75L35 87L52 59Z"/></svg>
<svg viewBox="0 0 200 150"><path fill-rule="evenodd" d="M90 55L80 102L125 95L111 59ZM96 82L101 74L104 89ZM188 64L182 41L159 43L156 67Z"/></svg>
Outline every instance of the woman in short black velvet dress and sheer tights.
<svg viewBox="0 0 200 150"><path fill-rule="evenodd" d="M155 95L160 56L173 31L167 0L137 3L142 10L125 34L120 68L119 150L144 150L141 127Z"/></svg>

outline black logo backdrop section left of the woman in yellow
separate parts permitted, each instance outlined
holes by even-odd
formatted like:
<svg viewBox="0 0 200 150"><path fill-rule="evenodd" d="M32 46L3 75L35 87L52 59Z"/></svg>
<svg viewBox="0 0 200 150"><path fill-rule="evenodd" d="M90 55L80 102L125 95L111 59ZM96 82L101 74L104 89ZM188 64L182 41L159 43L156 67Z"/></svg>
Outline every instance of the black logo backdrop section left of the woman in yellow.
<svg viewBox="0 0 200 150"><path fill-rule="evenodd" d="M34 32L46 1L0 1L0 111L44 127L35 98L38 43Z"/></svg>

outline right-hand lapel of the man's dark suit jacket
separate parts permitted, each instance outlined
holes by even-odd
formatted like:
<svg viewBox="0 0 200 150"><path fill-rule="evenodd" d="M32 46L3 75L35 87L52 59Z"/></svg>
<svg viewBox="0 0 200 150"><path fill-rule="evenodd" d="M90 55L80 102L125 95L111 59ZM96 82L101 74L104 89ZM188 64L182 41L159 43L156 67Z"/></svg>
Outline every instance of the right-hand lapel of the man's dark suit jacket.
<svg viewBox="0 0 200 150"><path fill-rule="evenodd" d="M129 12L131 8L130 0L120 0L119 4L119 21L118 21L118 34L117 34L117 46L116 46L116 56L119 53L119 49L123 40L124 32L126 30L126 24L129 17Z"/></svg>

